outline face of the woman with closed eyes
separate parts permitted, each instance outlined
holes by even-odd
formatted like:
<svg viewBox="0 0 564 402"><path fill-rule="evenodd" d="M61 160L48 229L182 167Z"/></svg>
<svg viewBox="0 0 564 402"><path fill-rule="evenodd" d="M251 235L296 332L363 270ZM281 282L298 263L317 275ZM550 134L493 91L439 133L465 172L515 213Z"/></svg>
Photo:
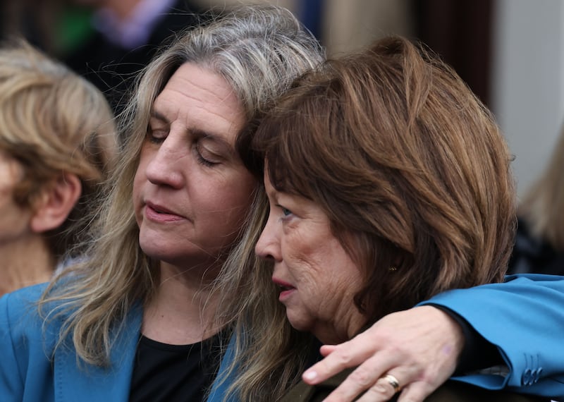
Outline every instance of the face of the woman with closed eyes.
<svg viewBox="0 0 564 402"><path fill-rule="evenodd" d="M221 103L221 106L218 106L218 103ZM179 104L185 104L186 107L180 108ZM236 237L245 216L242 212L246 211L252 195L252 181L246 181L252 176L235 157L234 152L235 133L243 124L240 105L223 78L202 70L196 64L185 63L155 99L152 111L150 133L159 143L153 144L146 140L142 150L141 159L147 162L145 167L140 167L137 175L145 174L139 172L146 169L147 178L154 181L153 185L146 185L143 202L149 200L157 205L162 203L163 207L179 217L185 217L190 223L186 228L187 232L179 231L178 225L167 226L163 233L176 233L178 237L176 240L171 237L163 243L164 237L158 235L155 239L162 243L159 253L168 254L166 250L178 249L174 251L177 257L172 257L171 260L178 264L180 260L176 259L185 254L180 252L180 243L188 243L193 245L192 250L204 251L197 257L198 260L202 259L201 264L210 262L212 265L218 265L221 260L214 262L214 259L223 255L224 248L228 245L226 242L231 242ZM154 116L159 118L155 119ZM164 122L168 123L163 127ZM194 130L187 130L190 126ZM192 135L195 131L214 133L217 138L221 138L218 143L229 145L226 148L230 152L219 164L207 166L200 163L200 138ZM152 157L144 159L145 152L149 152ZM245 177L243 187L237 183L236 191L226 193L228 188L235 189L233 175L240 173ZM204 202L205 197L213 198ZM140 209L136 209L137 217L141 217ZM216 226L219 221L227 224L223 225L221 230L212 230L216 232L213 238L207 235L202 237L203 233L210 232L209 226ZM143 225L143 220L140 222ZM182 219L178 224L182 224ZM152 228L150 221L147 221L147 228ZM152 233L151 230L147 233ZM143 230L140 231L142 241L144 233ZM155 235L157 234L158 232L155 232ZM161 240L158 240L159 237ZM207 257L204 258L203 255ZM190 265L192 264L200 265L197 260L192 260Z"/></svg>

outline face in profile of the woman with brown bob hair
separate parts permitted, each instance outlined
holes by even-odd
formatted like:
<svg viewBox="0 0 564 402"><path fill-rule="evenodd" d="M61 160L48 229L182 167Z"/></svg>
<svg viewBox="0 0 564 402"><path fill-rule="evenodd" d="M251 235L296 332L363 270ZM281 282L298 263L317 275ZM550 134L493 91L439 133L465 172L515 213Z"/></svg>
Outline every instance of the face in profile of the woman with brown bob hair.
<svg viewBox="0 0 564 402"><path fill-rule="evenodd" d="M274 260L273 279L293 288L281 299L290 323L324 343L349 339L365 322L353 302L362 284L360 269L321 208L275 190L268 173L264 183L271 208L256 250Z"/></svg>

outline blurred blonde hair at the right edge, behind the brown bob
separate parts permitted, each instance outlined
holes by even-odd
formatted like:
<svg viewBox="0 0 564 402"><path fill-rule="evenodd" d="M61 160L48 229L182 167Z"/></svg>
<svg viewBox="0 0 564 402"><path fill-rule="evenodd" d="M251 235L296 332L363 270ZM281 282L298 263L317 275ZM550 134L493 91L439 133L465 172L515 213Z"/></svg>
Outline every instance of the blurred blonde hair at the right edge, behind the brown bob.
<svg viewBox="0 0 564 402"><path fill-rule="evenodd" d="M564 250L564 127L544 173L519 205L519 214L534 236Z"/></svg>

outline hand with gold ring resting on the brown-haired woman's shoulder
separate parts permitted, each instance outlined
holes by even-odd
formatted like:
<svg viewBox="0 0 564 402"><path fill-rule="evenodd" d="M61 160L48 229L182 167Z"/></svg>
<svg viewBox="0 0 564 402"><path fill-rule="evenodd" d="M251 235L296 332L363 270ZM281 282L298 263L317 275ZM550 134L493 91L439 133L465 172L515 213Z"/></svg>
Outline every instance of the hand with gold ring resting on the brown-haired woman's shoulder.
<svg viewBox="0 0 564 402"><path fill-rule="evenodd" d="M326 402L388 401L392 374L401 386L398 402L422 402L455 371L464 346L462 329L445 312L431 306L395 312L355 338L322 346L325 358L306 370L307 384L319 384L347 367L357 367Z"/></svg>

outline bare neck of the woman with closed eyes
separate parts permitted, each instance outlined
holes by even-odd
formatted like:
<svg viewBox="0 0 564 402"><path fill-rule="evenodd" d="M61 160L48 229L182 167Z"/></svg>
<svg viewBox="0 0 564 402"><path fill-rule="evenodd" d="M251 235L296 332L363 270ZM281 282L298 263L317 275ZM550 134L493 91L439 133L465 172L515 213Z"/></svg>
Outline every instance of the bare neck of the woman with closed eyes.
<svg viewBox="0 0 564 402"><path fill-rule="evenodd" d="M145 306L142 333L171 345L188 345L213 336L217 297L201 269L180 271L161 262L161 283Z"/></svg>

